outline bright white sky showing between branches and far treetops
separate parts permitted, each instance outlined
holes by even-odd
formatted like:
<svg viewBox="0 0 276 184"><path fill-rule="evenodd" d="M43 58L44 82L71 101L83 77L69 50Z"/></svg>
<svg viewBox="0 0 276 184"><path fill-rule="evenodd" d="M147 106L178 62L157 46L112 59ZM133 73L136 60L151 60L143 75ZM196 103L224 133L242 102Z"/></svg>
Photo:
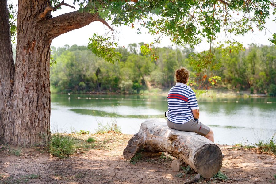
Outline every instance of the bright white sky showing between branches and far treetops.
<svg viewBox="0 0 276 184"><path fill-rule="evenodd" d="M13 3L17 3L17 0L8 0L12 1ZM78 5L73 4L73 0L66 0L65 1L67 4L70 4L72 6L75 6L76 9L78 9ZM70 8L68 6L62 6L61 10L57 10L56 12L52 12L52 16L56 17L58 15L68 13L71 11L75 11L73 8ZM273 22L272 20L274 17L270 15L270 20L268 20L265 24L265 26L270 30L271 33L276 33L276 23ZM110 24L109 24L110 25ZM137 28L139 25L134 25L135 28L132 29L130 26L125 26L122 25L121 27L116 28L116 40L115 42L118 43L118 46L125 46L127 48L128 44L131 43L151 43L154 38L149 35L147 32L146 28L142 29L142 34L138 35L137 33ZM113 27L114 29L114 27ZM62 34L58 36L57 38L52 40L51 46L54 46L56 48L62 47L65 44L68 44L69 46L72 46L74 44L77 45L84 45L87 46L89 43L88 39L92 37L93 33L98 33L99 35L104 35L106 32L109 31L109 28L107 28L105 25L103 25L101 22L92 22L90 25L87 25L85 27L82 27L80 29L76 29L73 31L70 31L68 33ZM249 44L255 43L258 45L270 45L270 42L268 39L271 37L271 33L269 31L264 31L259 32L255 31L254 33L248 33L245 36L230 36L230 38L233 38L235 40L239 40L240 42L243 43L244 47L248 47ZM225 33L221 33L219 35L219 38L217 41L225 41ZM163 37L161 40L161 43L158 45L158 47L167 47L167 46L172 46L170 39L166 36ZM176 46L173 46L175 48ZM209 48L209 44L206 41L203 41L199 45L195 45L195 50L196 51L202 51L206 50Z"/></svg>

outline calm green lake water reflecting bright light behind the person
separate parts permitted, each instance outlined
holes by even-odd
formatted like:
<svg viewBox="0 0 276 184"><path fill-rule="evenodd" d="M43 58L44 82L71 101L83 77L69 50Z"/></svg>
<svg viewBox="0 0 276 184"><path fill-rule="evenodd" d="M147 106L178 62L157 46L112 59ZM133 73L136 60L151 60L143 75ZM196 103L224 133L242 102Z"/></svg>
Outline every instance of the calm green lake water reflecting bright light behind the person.
<svg viewBox="0 0 276 184"><path fill-rule="evenodd" d="M276 132L276 98L198 97L199 120L215 133L215 143L254 144ZM147 118L164 118L166 96L52 94L54 132L95 132L111 121L125 134L135 134Z"/></svg>

